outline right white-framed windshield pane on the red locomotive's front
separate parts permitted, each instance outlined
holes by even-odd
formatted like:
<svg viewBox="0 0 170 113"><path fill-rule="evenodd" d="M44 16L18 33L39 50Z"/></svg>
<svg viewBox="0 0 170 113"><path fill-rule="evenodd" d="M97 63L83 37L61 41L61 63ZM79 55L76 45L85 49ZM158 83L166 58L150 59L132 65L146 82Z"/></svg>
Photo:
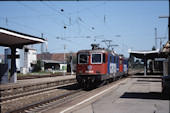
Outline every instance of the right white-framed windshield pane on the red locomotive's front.
<svg viewBox="0 0 170 113"><path fill-rule="evenodd" d="M97 53L97 54L92 54L92 63L93 64L100 64L102 63L102 54Z"/></svg>

